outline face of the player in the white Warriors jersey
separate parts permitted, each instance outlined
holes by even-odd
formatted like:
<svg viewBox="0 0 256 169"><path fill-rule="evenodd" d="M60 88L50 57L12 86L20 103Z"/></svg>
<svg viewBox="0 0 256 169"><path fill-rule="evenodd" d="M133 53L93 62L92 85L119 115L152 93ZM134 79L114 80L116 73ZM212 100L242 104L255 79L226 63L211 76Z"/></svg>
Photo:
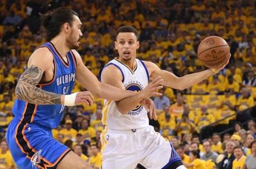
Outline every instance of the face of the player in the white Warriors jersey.
<svg viewBox="0 0 256 169"><path fill-rule="evenodd" d="M136 57L139 41L134 33L122 32L116 37L115 48L118 50L120 59L129 61Z"/></svg>

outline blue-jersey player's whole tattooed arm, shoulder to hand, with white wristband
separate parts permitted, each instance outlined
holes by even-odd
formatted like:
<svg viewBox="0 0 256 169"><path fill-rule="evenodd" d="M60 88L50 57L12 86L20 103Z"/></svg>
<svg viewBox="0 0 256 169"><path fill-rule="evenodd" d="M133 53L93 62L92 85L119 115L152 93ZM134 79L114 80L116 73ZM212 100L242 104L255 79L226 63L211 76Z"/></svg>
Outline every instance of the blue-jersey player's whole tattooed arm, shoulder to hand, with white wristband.
<svg viewBox="0 0 256 169"><path fill-rule="evenodd" d="M88 92L71 95L61 95L42 90L37 84L42 79L43 73L51 68L53 55L47 48L35 50L28 60L28 68L18 80L15 94L18 99L32 104L64 104L67 106L85 103L91 105L93 96Z"/></svg>

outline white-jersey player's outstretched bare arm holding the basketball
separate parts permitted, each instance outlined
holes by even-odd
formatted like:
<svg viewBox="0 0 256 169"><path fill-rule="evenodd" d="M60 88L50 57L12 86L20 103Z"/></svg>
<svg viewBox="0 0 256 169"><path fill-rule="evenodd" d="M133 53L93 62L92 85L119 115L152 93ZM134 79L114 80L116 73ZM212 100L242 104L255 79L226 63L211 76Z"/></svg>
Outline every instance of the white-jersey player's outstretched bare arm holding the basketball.
<svg viewBox="0 0 256 169"><path fill-rule="evenodd" d="M225 67L229 62L229 59L227 62L221 66L220 68L215 69L215 71L219 71ZM149 69L150 72L150 79L154 80L158 76L161 76L164 80L161 82L161 85L169 86L170 88L184 90L186 88L189 88L190 86L193 86L200 81L208 78L209 76L215 74L212 69L200 71L198 73L188 74L182 77L178 77L174 75L173 73L170 73L166 70L161 70L156 64L152 62L145 62L147 69Z"/></svg>

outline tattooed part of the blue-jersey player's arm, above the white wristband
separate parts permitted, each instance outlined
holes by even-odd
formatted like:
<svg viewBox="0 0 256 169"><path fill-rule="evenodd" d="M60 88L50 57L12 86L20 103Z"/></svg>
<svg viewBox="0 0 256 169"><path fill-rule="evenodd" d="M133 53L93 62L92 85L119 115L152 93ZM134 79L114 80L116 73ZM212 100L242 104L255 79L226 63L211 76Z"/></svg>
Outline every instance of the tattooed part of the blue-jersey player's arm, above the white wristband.
<svg viewBox="0 0 256 169"><path fill-rule="evenodd" d="M15 89L17 98L32 104L61 104L60 94L51 93L36 87L42 75L43 71L33 65L24 71Z"/></svg>

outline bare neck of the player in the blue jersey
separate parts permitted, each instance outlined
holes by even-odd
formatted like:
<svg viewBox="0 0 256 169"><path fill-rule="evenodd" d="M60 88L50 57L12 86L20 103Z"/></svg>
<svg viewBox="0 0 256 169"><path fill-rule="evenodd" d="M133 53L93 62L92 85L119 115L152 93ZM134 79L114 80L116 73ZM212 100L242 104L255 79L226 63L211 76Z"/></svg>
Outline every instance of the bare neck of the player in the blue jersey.
<svg viewBox="0 0 256 169"><path fill-rule="evenodd" d="M66 40L64 40L63 37L57 36L51 40L51 43L57 49L58 53L60 53L62 58L65 58L68 51L70 51L70 48L68 48Z"/></svg>

